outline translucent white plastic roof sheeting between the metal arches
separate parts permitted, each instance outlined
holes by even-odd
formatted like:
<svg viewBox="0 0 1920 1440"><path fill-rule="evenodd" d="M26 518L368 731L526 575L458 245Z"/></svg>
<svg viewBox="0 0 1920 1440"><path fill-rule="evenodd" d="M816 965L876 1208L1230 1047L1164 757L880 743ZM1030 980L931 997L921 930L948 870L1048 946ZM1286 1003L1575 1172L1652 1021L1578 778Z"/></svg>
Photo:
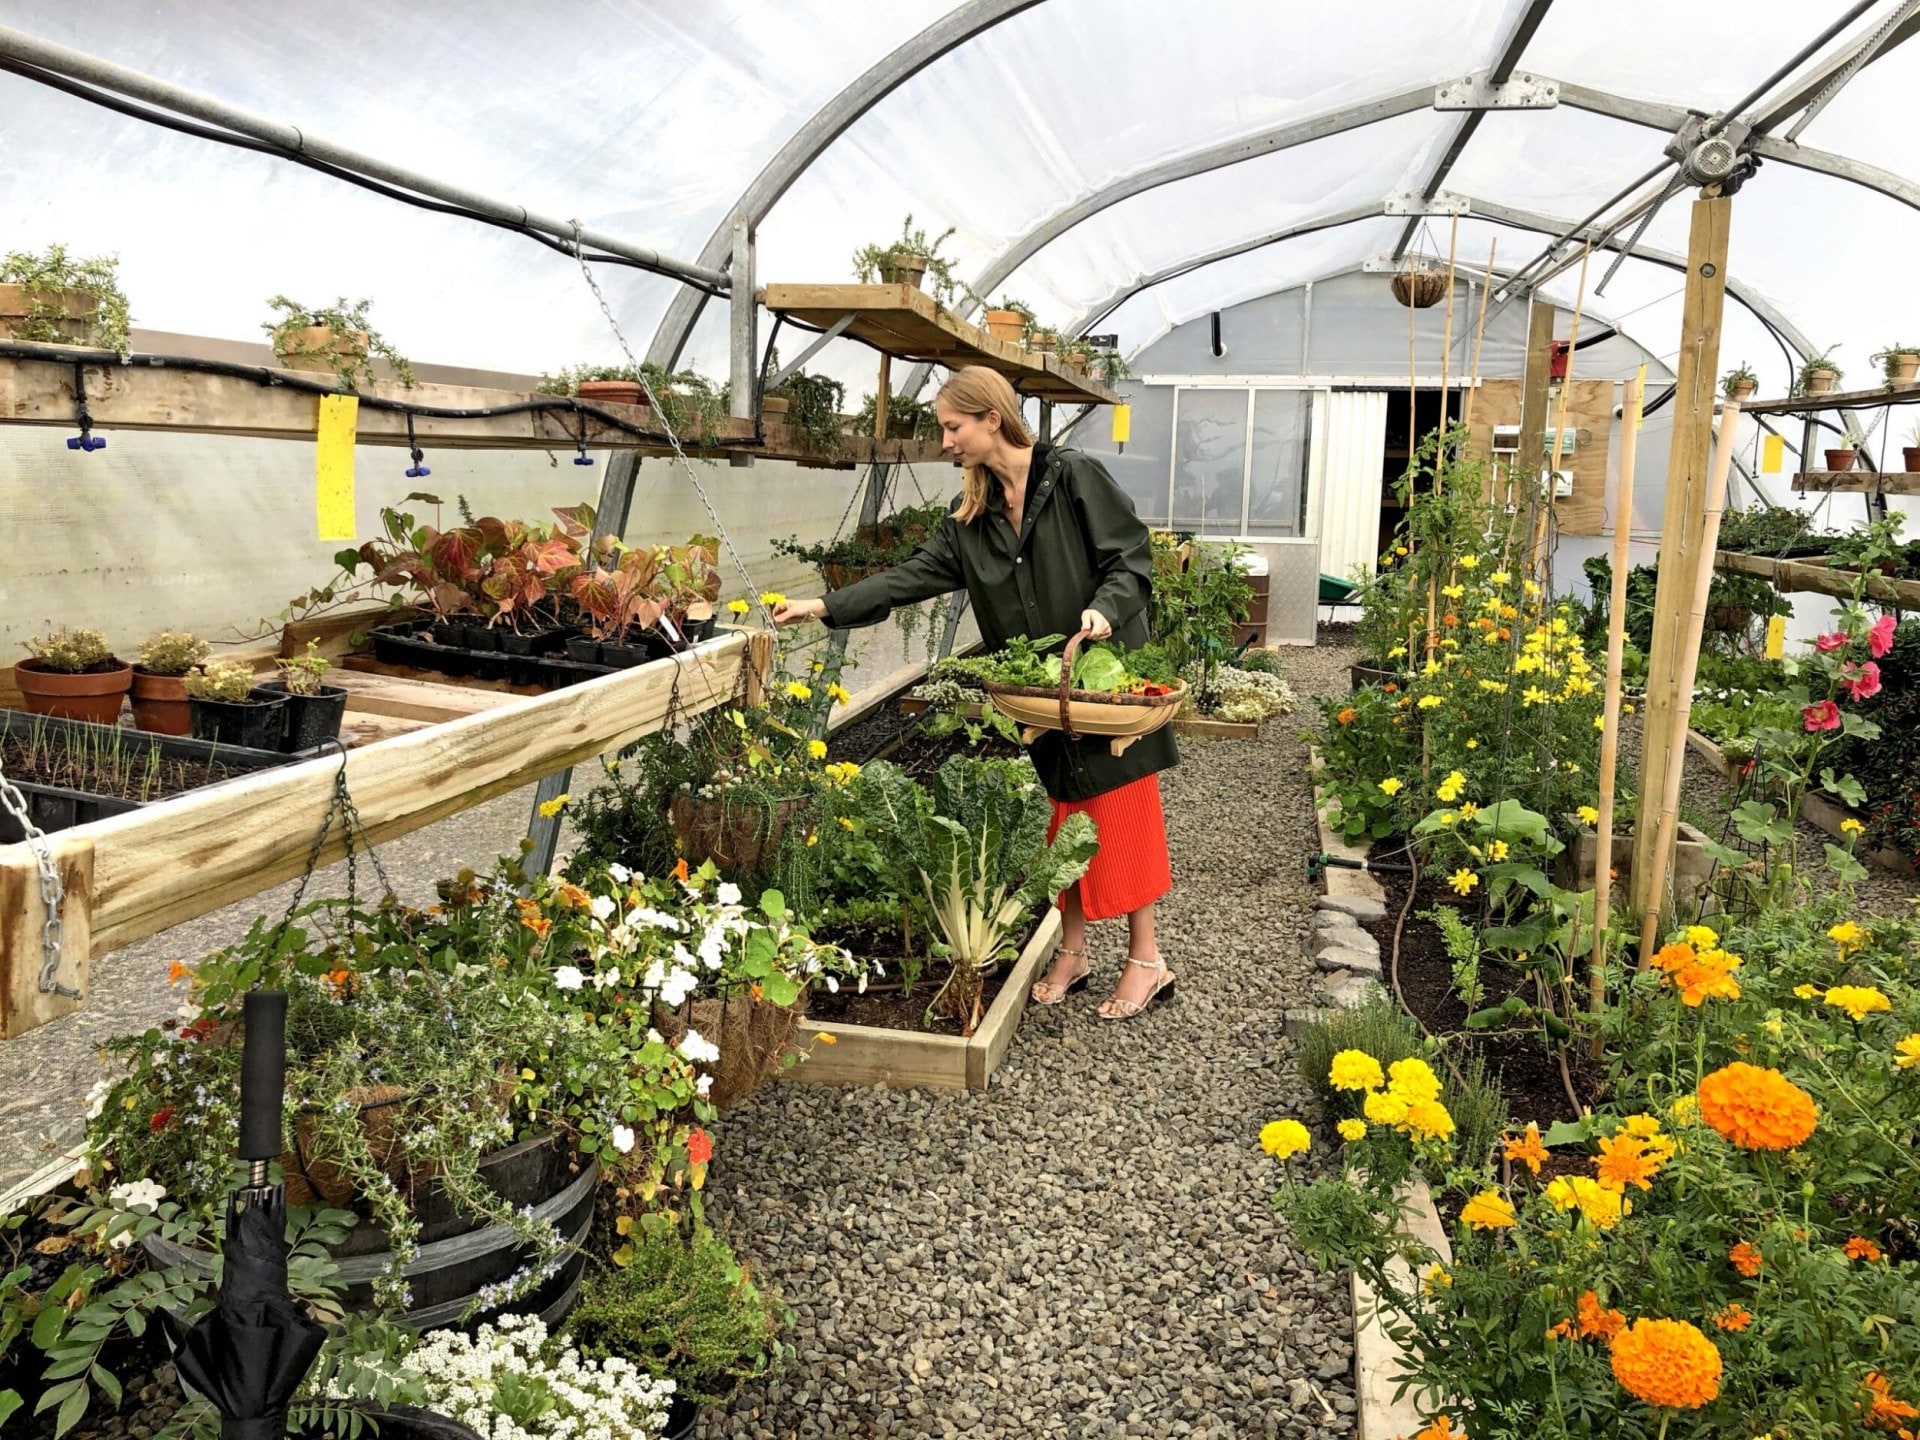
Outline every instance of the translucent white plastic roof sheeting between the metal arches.
<svg viewBox="0 0 1920 1440"><path fill-rule="evenodd" d="M1884 0L1830 52L1889 8ZM15 0L6 19L693 259L820 106L950 10L929 0L342 0L307 10ZM849 253L887 238L908 209L935 230L956 225L960 271L977 275L1048 215L1142 165L1480 69L1523 10L1524 0L1044 0L908 79L828 146L766 217L760 276L845 276ZM1521 69L1711 109L1811 38L1818 12L1789 0L1736 12L1557 0ZM1853 81L1803 142L1910 177L1903 102L1916 77L1920 44L1908 42ZM419 359L540 371L614 353L576 267L530 240L169 134L12 75L0 75L0 115L6 244L117 252L146 326L250 338L273 292L346 292L374 296L382 328ZM1183 257L1417 188L1459 121L1415 111L1162 186L1075 227L1004 290L1071 321ZM1647 169L1659 148L1657 131L1571 108L1494 113L1446 184L1571 221ZM1390 250L1398 225L1354 225L1210 265L1146 292L1102 328L1135 348L1196 313ZM1903 323L1916 326L1908 286L1870 303L1862 288L1876 273L1895 275L1893 257L1916 240L1914 209L1768 161L1736 200L1732 273L1816 344L1837 344L1864 378L1870 351L1899 338ZM1542 244L1509 234L1503 255L1509 242L1513 261ZM1684 252L1684 198L1647 242ZM1638 269L1630 263L1615 288L1632 292L1630 332L1661 353L1678 311L1659 290L1678 288L1678 276L1630 280ZM601 275L628 338L645 348L674 284ZM1571 276L1549 294L1571 301ZM708 307L689 351L708 372L724 371L718 311ZM1763 367L1768 390L1786 378L1778 348L1751 321L1730 321L1730 351ZM851 346L828 365L856 382L872 374Z"/></svg>

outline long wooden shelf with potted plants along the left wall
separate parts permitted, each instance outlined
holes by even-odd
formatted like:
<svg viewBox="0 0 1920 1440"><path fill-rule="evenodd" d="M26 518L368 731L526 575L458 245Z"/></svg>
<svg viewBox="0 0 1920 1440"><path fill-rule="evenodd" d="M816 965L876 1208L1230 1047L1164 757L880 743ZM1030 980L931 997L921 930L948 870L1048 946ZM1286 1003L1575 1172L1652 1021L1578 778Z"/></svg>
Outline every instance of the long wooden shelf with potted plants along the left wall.
<svg viewBox="0 0 1920 1440"><path fill-rule="evenodd" d="M0 420L15 424L52 424L79 430L75 420L71 355L96 351L67 346L38 346L44 357L0 357ZM67 351L67 353L63 353ZM182 365L167 365L157 357L134 355L131 365L81 363L86 384L86 411L96 430L184 430L190 434L253 436L263 440L313 440L319 417L319 396L296 390L276 380L315 380L301 371L259 369L250 374L211 374ZM252 378L257 374L259 378ZM478 386L417 384L411 390L394 382L374 382L363 396L401 401L428 409L488 411L528 401L551 399L518 390L484 390ZM657 428L653 411L645 405L597 405L607 415L641 430ZM511 415L417 415L413 434L424 449L572 449L580 444L582 426L588 449L637 449L641 455L672 455L657 440L643 440L614 424L572 409L515 411ZM407 415L403 411L359 407L355 438L363 445L407 445ZM689 453L764 455L766 459L803 465L854 467L879 461L933 465L943 461L939 445L916 440L870 440L849 436L835 455L806 445L797 428L785 420L766 420L766 444L753 440L753 420L726 420L716 444L707 444L699 426L682 440Z"/></svg>

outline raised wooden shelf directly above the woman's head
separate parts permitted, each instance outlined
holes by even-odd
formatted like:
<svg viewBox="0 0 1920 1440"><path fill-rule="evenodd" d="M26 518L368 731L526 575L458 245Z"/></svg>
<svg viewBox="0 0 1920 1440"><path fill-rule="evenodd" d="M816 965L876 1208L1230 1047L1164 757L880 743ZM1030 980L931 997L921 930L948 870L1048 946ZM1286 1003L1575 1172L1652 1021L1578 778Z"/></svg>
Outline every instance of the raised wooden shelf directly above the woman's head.
<svg viewBox="0 0 1920 1440"><path fill-rule="evenodd" d="M935 303L933 296L906 284L770 284L762 303L820 330L852 315L841 332L874 349L908 361L937 365L987 365L1014 382L1014 390L1073 405L1117 405L1119 396L1089 380L1052 355L995 340Z"/></svg>

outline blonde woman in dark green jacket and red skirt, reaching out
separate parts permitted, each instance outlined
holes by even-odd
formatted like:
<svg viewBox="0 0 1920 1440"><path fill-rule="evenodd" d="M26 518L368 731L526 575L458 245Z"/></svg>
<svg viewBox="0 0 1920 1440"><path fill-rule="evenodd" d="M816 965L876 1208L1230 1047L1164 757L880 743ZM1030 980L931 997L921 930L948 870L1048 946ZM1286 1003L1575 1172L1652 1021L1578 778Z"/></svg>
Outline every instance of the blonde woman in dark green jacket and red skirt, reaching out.
<svg viewBox="0 0 1920 1440"><path fill-rule="evenodd" d="M1012 636L1069 636L1146 643L1152 547L1133 501L1096 459L1037 445L1020 419L1014 388L998 371L958 371L935 399L941 449L964 467L960 499L902 564L835 589L787 601L776 624L820 618L835 628L879 624L897 605L966 588L989 649ZM1171 730L1156 730L1114 756L1108 741L1048 730L1033 743L1033 768L1054 801L1054 824L1087 812L1100 852L1060 899L1062 937L1039 1004L1058 1004L1087 985L1087 922L1127 916L1127 964L1100 1006L1131 1020L1162 995L1173 973L1154 939L1154 900L1171 885L1160 772L1179 764ZM1048 835L1050 837L1050 835Z"/></svg>

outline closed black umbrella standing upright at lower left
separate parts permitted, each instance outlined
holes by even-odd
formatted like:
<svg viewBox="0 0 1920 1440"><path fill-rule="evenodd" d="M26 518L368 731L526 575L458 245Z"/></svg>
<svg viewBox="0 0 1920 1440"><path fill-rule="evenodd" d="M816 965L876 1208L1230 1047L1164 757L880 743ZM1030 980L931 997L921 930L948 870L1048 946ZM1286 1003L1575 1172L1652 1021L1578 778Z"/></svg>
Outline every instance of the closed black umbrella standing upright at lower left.
<svg viewBox="0 0 1920 1440"><path fill-rule="evenodd" d="M280 1154L286 1087L286 993L250 991L240 1060L240 1158L248 1183L227 1202L221 1298L182 1336L180 1379L221 1413L223 1440L280 1440L286 1405L326 1331L286 1288L286 1190L267 1183Z"/></svg>

